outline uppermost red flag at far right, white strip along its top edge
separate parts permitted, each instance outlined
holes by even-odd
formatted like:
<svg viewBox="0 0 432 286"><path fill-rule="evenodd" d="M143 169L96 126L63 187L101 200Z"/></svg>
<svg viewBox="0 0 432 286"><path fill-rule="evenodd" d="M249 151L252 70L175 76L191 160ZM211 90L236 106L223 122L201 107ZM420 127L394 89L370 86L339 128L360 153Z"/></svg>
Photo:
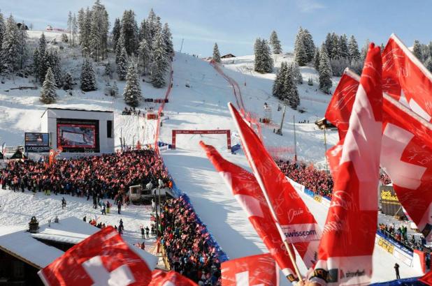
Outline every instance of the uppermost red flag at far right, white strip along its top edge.
<svg viewBox="0 0 432 286"><path fill-rule="evenodd" d="M432 121L432 74L394 34L382 51L382 90Z"/></svg>

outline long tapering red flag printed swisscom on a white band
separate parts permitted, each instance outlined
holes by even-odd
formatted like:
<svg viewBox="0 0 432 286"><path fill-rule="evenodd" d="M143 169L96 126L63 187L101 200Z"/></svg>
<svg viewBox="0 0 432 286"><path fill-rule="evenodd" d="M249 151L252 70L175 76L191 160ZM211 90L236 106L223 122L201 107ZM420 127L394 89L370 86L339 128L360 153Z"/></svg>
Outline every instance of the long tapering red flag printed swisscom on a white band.
<svg viewBox="0 0 432 286"><path fill-rule="evenodd" d="M288 243L319 241L321 230L300 195L276 165L254 130L231 103L228 106L247 160L266 197L281 238Z"/></svg>

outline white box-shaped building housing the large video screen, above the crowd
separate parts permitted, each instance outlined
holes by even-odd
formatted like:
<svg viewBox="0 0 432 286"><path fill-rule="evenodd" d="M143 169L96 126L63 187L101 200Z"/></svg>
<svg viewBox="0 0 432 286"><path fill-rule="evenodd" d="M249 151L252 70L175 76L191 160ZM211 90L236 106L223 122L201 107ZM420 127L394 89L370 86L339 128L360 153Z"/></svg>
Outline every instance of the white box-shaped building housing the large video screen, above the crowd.
<svg viewBox="0 0 432 286"><path fill-rule="evenodd" d="M114 114L111 111L48 108L41 116L41 132L50 148L64 153L114 153Z"/></svg>

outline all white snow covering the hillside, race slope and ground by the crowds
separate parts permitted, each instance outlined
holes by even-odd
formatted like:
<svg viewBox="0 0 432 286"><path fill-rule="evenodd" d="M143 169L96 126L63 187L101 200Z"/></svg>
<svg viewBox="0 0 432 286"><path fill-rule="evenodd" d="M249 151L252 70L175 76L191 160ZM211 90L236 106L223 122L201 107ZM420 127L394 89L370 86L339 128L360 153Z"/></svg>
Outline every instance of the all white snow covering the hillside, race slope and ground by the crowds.
<svg viewBox="0 0 432 286"><path fill-rule="evenodd" d="M33 32L31 37L36 40L40 33ZM47 38L56 36L56 33L45 33ZM60 33L57 35L59 39ZM64 60L66 69L73 73L75 82L79 84L79 73L82 59L78 49L65 48L59 51ZM111 55L112 57L112 55ZM285 58L284 58L285 57ZM110 58L113 63L113 58ZM275 70L282 61L292 61L290 55L280 56L276 59ZM282 110L278 111L279 100L271 95L271 87L275 74L261 75L252 70L253 56L238 57L224 60L224 73L232 77L240 86L243 102L248 112L257 118L264 116L264 103L271 106L273 123L262 125L262 138L264 144L270 149L283 149L279 155L286 157L294 156L294 124L296 127L296 151L298 158L319 167L324 167L324 133L315 126L316 119L324 116L327 103L331 98L317 90L317 73L309 66L302 67L303 85L298 86L301 105L298 110L287 108L285 115L283 136L275 135L273 128L278 128L282 118ZM64 91L59 90L59 101L50 107L60 108L82 108L87 110L113 110L115 115L115 144L120 146L120 134L127 138L127 144L140 138L143 142L152 142L156 130L155 121L143 121L135 116L120 115L124 109L121 97L124 82L118 82L120 90L119 98L103 95L104 81L103 64L95 65L98 80L98 91L82 93L79 85L74 86L73 96L67 96ZM232 87L229 83L210 66L208 61L190 57L185 54L176 54L173 61L173 89L169 97L169 103L165 105L164 117L161 119L161 130L159 140L171 143L171 131L173 129L208 130L229 129L231 130L231 144L238 144L239 138L236 127L226 107L228 102L236 102ZM308 86L308 78L314 80L313 86ZM333 78L333 89L338 78ZM190 87L185 86L189 84ZM38 90L10 90L11 87L20 85L32 85L31 79L15 78L0 84L0 142L6 141L8 146L16 146L24 141L24 132L40 130L40 116L48 105L39 102ZM6 91L9 90L9 91ZM147 98L163 98L166 89L154 89L151 84L141 81L143 96ZM140 109L145 107L157 108L153 103L141 103ZM310 123L298 123L298 121L309 121ZM135 136L135 137L134 137ZM336 131L327 133L328 148L336 144L338 134ZM247 216L240 208L215 172L213 165L206 158L205 153L199 148L198 142L203 140L206 144L213 144L222 155L247 169L247 161L240 151L238 155L231 155L226 150L225 135L178 135L177 149L163 151L162 156L173 175L176 185L187 193L194 204L196 212L208 226L210 232L224 249L230 258L243 257L266 252L264 244L257 236L247 220ZM150 225L150 212L143 206L127 206L122 215L115 213L101 216L99 210L92 209L92 203L85 198L65 196L68 202L66 209L62 210L61 195L46 197L43 193L33 195L29 192L13 193L10 190L0 190L0 229L3 226L11 227L19 225L24 229L29 223L31 216L36 216L41 223L48 219L53 220L57 215L62 220L74 216L82 219L87 215L87 220L98 217L103 223L118 225L120 218L124 221L124 238L130 243L141 242L139 227ZM322 226L326 219L326 209L322 204L305 197L305 202L315 214L317 221ZM359 230L360 231L360 230ZM150 241L149 241L150 242ZM151 243L151 242L150 242ZM146 243L147 245L147 243ZM374 276L373 282L394 279L393 265L396 262L393 256L384 252L381 248L375 248L374 252ZM401 277L419 276L412 269L401 264ZM301 271L305 273L305 266ZM282 280L285 281L285 280ZM287 283L286 281L284 283Z"/></svg>

